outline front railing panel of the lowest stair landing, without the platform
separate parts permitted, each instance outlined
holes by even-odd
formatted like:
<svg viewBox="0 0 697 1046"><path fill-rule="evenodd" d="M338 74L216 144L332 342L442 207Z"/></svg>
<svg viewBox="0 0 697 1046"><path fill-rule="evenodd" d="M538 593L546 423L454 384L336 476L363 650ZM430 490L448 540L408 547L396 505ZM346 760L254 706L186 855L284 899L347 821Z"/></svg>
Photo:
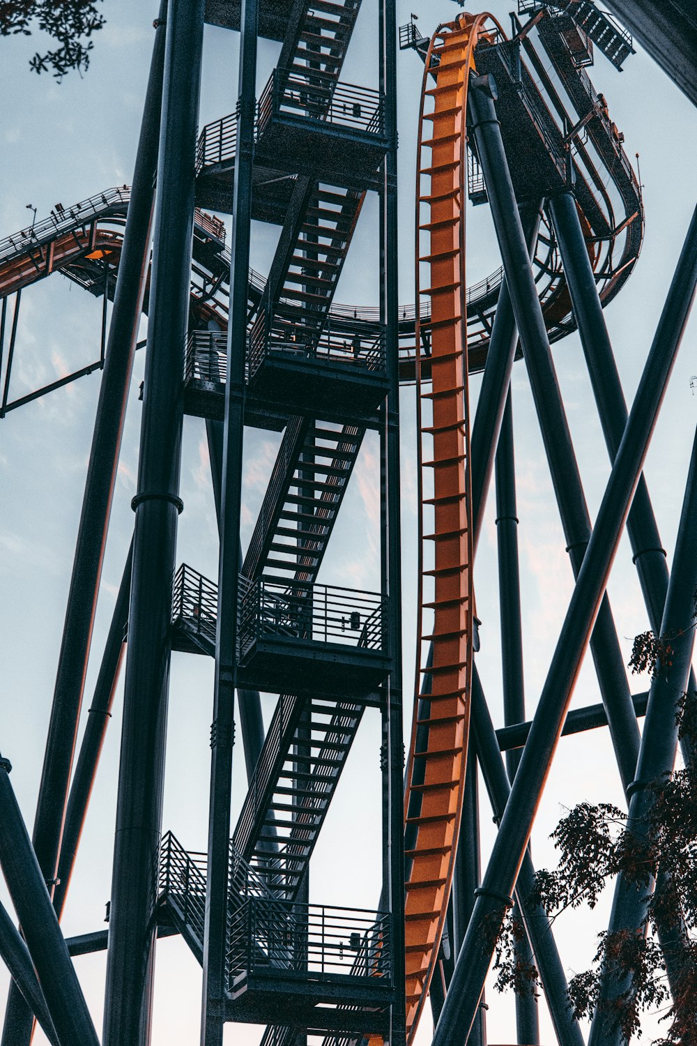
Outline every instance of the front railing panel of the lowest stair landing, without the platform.
<svg viewBox="0 0 697 1046"><path fill-rule="evenodd" d="M241 972L391 979L390 916L250 897L230 926L231 982Z"/></svg>

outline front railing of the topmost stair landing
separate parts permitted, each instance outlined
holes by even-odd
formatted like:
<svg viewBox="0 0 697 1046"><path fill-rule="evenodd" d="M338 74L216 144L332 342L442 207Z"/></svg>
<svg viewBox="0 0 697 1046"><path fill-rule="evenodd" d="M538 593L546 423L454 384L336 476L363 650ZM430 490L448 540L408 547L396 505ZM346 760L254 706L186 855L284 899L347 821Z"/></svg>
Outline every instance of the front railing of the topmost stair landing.
<svg viewBox="0 0 697 1046"><path fill-rule="evenodd" d="M257 136L273 116L321 120L352 131L384 133L384 105L379 91L342 84L315 69L274 69L257 107Z"/></svg>

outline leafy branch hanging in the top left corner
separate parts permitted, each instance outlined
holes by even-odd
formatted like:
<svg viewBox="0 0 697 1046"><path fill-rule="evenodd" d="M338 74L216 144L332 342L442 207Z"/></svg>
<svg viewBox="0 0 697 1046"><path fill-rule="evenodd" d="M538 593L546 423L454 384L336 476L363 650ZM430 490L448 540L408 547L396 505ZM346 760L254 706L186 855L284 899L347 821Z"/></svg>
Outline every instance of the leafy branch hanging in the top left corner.
<svg viewBox="0 0 697 1046"><path fill-rule="evenodd" d="M36 29L47 32L57 47L43 54L39 51L29 62L34 72L53 71L63 79L70 69L80 74L90 64L93 32L104 24L97 4L102 0L0 0L0 36L16 33L31 36Z"/></svg>

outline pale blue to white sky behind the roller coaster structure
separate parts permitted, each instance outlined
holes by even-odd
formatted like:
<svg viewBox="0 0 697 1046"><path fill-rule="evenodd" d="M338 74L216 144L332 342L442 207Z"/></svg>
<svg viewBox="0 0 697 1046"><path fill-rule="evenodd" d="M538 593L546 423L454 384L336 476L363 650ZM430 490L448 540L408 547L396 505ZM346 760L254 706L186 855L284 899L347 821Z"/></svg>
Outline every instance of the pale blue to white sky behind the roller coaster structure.
<svg viewBox="0 0 697 1046"><path fill-rule="evenodd" d="M508 24L512 4L492 0L490 9ZM0 39L0 236L27 224L26 205L48 215L56 202L68 206L102 189L131 182L143 93L153 43L155 0L106 0L106 28L95 36L92 63L79 77L56 84L37 76L28 59L33 38ZM343 77L374 85L376 18L364 3ZM424 36L459 8L451 0L398 0L398 21L418 15ZM259 51L260 89L279 45L263 42ZM237 44L234 33L206 28L200 126L234 109ZM628 402L634 394L659 311L673 274L694 207L697 160L695 110L661 70L637 47L625 71L618 73L602 56L589 70L607 98L611 118L624 131L630 158L640 154L646 208L646 237L631 278L607 308L606 320ZM400 300L414 300L413 229L414 166L421 65L411 51L399 55L399 207ZM375 243L376 201L364 207L349 265L336 299L377 302ZM226 219L229 228L229 221ZM268 271L278 229L254 226L252 265ZM468 213L468 282L499 264L488 209ZM470 276L471 274L471 276ZM24 292L19 325L13 395L20 395L98 356L101 303L60 275ZM143 335L145 324L143 323ZM688 461L697 422L697 397L691 379L697 373L697 324L689 325L664 403L646 463L646 475L669 564L680 513ZM591 518L609 473L600 423L578 337L553 346L568 424ZM137 475L143 354L133 376L123 447L102 574L93 657L86 686L89 705L106 630L111 619L125 558L133 515L130 503ZM98 394L98 374L9 414L0 422L0 750L14 767L11 781L24 817L33 819L46 728L53 692L72 555L82 506L89 447ZM472 380L471 407L480 380ZM554 500L539 428L522 363L513 373L520 568L526 646L526 697L534 711L573 589L572 572ZM402 564L404 689L414 676L416 621L416 474L414 389L402 389ZM258 430L246 433L242 541L250 536L273 467L278 436ZM182 497L177 562L189 563L209 577L217 571L217 532L213 510L204 424L185 418ZM501 660L495 568L493 497L489 498L474 572L482 650L478 664L496 726L503 725ZM376 589L379 585L378 457L375 439L367 439L332 537L321 581ZM362 536L356 541L356 535ZM632 637L648 628L631 553L623 540L610 578L609 595L625 660ZM209 774L208 731L211 718L213 664L203 657L172 656L163 826L194 850L205 848ZM645 679L630 680L633 691ZM408 699L411 700L411 699ZM598 686L587 659L574 707L596 703ZM264 698L269 717L273 700ZM409 728L410 712L405 715ZM83 724L84 726L84 724ZM368 713L356 737L347 771L338 789L326 827L312 859L311 897L332 904L371 908L379 884L379 732ZM80 730L82 732L82 730ZM64 916L67 935L103 926L109 897L120 732L120 689L115 703L99 775L93 793L71 892ZM233 778L235 810L245 794L243 760L237 748ZM484 796L484 789L482 788ZM564 810L580 800L623 804L606 730L563 738L542 798L533 833L539 866L554 863L549 835ZM356 816L356 811L362 816ZM233 812L234 816L234 812ZM482 799L482 833L486 856L494 832L486 798ZM598 909L558 920L557 937L567 974L587 968L596 935L607 919L611 891ZM4 887L0 897L8 904ZM76 960L76 969L97 1029L101 1027L104 958ZM198 1041L201 971L179 938L158 947L155 1046L184 1046ZM6 976L0 975L0 1015L4 1011ZM513 1042L510 997L488 991L491 1043ZM542 1043L552 1044L549 1018L541 1007ZM655 1028L647 1023L647 1033ZM260 1029L229 1025L226 1042L250 1046ZM429 1041L423 1020L420 1044ZM45 1040L41 1033L34 1040Z"/></svg>

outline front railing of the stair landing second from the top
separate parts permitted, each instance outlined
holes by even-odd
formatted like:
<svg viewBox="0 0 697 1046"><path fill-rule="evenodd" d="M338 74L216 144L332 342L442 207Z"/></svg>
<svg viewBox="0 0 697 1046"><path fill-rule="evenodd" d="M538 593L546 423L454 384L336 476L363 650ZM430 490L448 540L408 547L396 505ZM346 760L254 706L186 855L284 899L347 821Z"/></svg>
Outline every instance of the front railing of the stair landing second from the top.
<svg viewBox="0 0 697 1046"><path fill-rule="evenodd" d="M248 366L250 381L271 356L326 363L350 364L371 372L385 371L385 332L377 335L356 328L342 336L329 324L317 334L302 323L274 318L269 329L268 316L260 312L250 331Z"/></svg>

